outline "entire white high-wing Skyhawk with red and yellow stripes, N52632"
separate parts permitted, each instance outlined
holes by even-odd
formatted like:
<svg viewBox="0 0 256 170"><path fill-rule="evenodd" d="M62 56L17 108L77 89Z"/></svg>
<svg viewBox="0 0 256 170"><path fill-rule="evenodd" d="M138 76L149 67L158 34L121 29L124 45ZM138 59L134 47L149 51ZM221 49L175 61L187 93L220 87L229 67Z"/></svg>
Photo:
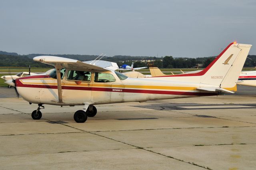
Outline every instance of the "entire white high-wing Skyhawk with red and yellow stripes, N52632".
<svg viewBox="0 0 256 170"><path fill-rule="evenodd" d="M116 72L112 62L96 66L68 58L37 56L34 61L51 64L56 69L48 75L13 81L15 90L24 100L38 104L37 110L32 112L33 119L42 117L43 104L83 105L83 110L74 113L74 120L80 123L96 115L94 105L97 104L234 93L232 90L236 91L236 82L251 46L231 43L206 69L195 74L150 78L128 78Z"/></svg>

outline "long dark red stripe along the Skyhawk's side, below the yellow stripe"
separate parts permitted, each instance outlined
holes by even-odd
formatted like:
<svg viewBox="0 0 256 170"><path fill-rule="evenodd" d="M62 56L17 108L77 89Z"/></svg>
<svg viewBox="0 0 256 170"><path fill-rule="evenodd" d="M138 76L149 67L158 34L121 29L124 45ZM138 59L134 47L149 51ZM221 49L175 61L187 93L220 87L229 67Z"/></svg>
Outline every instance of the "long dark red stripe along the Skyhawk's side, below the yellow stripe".
<svg viewBox="0 0 256 170"><path fill-rule="evenodd" d="M58 86L51 85L38 85L38 84L16 84L16 87L27 88L52 88L58 89ZM217 93L205 92L178 92L178 91L164 91L164 90L141 90L141 89L122 89L122 88L98 88L98 87L81 87L81 86L62 86L66 90L92 90L102 92L125 92L125 93L144 93L144 94L172 94L172 95L185 95L185 96L214 96ZM114 91L113 89L120 90Z"/></svg>

